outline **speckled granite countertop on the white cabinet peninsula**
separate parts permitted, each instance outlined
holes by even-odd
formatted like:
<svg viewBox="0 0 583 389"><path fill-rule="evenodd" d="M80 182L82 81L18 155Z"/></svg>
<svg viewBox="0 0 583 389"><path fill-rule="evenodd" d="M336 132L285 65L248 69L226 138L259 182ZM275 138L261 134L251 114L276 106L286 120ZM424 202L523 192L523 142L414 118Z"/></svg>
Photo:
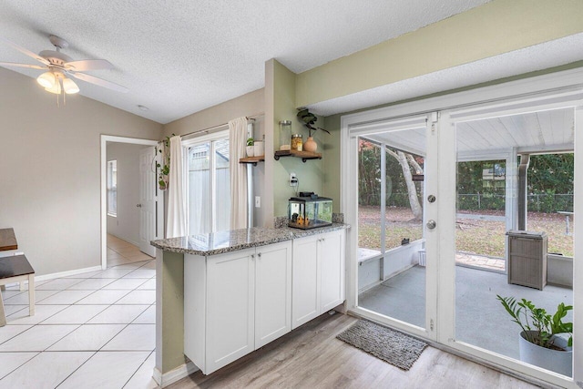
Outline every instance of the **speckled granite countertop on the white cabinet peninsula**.
<svg viewBox="0 0 583 389"><path fill-rule="evenodd" d="M348 228L350 228L349 225L342 223L332 223L332 226L312 230L299 230L289 227L281 229L253 227L251 229L226 230L209 234L161 239L159 241L150 241L150 244L163 251L207 256L265 246L280 241L292 241L293 239Z"/></svg>

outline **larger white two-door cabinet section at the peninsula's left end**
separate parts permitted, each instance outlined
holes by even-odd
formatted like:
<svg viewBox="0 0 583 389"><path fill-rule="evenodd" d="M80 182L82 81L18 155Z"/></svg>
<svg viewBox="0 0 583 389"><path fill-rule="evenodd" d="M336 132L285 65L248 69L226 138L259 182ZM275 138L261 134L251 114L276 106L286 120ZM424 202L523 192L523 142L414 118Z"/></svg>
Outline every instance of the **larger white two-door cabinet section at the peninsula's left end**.
<svg viewBox="0 0 583 389"><path fill-rule="evenodd" d="M204 374L292 329L292 242L185 254L184 353Z"/></svg>

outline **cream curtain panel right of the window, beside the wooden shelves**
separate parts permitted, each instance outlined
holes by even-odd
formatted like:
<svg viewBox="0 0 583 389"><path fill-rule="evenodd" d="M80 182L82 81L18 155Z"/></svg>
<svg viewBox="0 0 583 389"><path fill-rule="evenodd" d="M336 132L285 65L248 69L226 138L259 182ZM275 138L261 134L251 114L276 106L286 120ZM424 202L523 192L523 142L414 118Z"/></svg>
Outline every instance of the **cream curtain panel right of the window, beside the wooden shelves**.
<svg viewBox="0 0 583 389"><path fill-rule="evenodd" d="M229 169L230 169L230 229L247 228L247 168L239 163L245 157L247 118L229 122Z"/></svg>

